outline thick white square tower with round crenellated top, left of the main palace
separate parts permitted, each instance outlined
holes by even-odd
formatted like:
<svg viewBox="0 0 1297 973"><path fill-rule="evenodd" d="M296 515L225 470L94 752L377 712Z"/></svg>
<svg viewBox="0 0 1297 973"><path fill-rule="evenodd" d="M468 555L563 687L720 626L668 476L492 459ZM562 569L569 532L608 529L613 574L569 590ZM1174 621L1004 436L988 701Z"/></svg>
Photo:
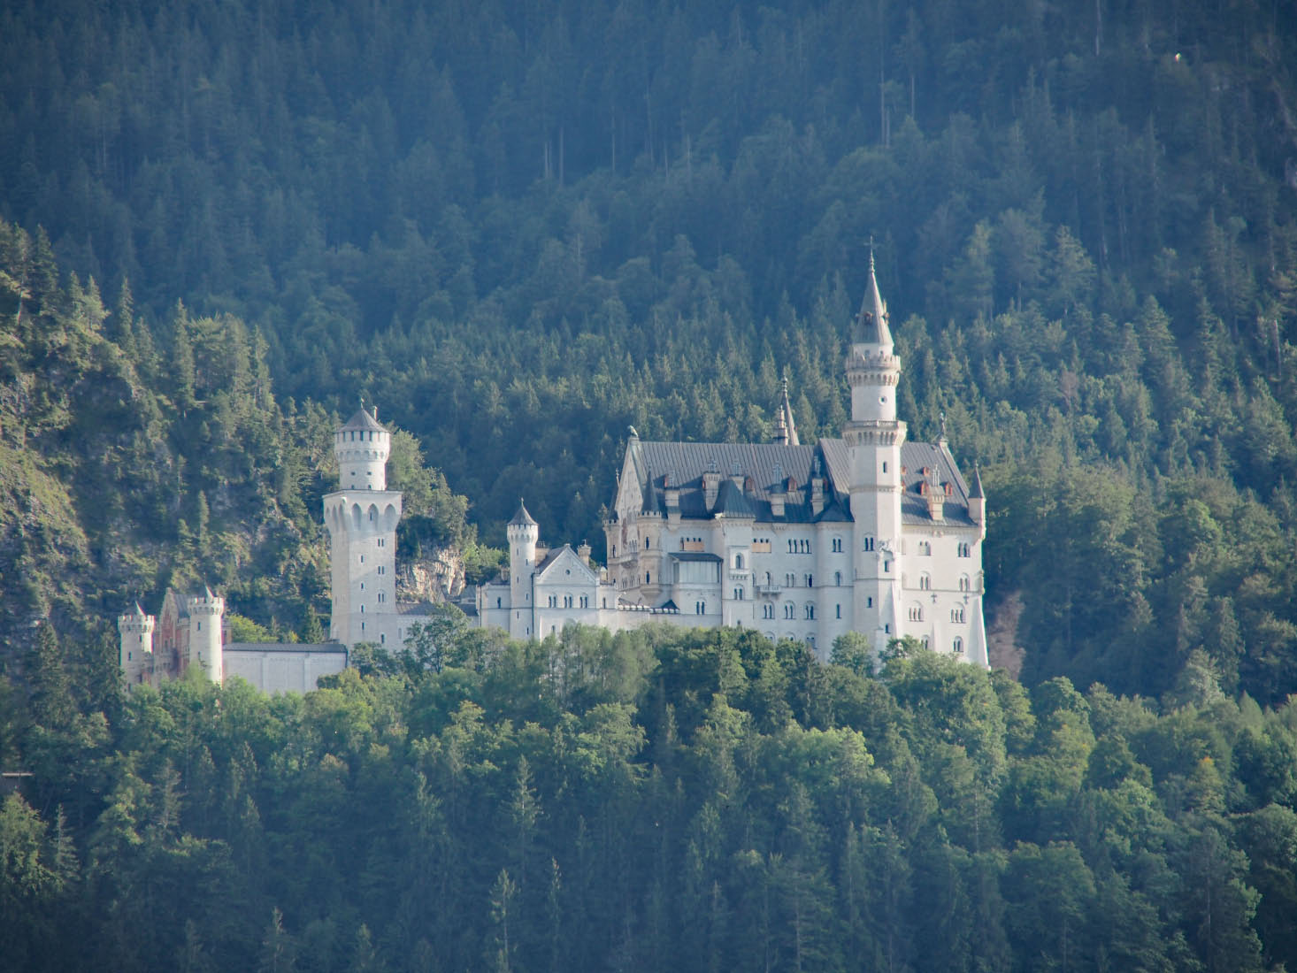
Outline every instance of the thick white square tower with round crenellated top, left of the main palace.
<svg viewBox="0 0 1297 973"><path fill-rule="evenodd" d="M339 486L324 497L333 611L329 637L398 645L397 524L401 493L388 489L392 435L362 406L333 436Z"/></svg>

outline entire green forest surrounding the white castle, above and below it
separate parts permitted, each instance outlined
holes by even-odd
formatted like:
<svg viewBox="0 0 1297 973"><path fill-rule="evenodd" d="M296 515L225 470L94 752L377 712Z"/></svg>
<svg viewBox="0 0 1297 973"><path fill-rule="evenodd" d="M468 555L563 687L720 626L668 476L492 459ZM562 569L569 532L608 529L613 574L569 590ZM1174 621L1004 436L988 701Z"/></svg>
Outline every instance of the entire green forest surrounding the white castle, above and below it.
<svg viewBox="0 0 1297 973"><path fill-rule="evenodd" d="M323 638L358 398L470 583L630 424L838 435L870 254L1006 672L445 608L121 694L169 585ZM4 0L0 968L1297 969L1294 419L1283 0Z"/></svg>

